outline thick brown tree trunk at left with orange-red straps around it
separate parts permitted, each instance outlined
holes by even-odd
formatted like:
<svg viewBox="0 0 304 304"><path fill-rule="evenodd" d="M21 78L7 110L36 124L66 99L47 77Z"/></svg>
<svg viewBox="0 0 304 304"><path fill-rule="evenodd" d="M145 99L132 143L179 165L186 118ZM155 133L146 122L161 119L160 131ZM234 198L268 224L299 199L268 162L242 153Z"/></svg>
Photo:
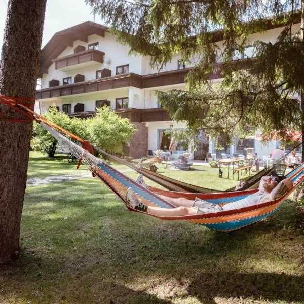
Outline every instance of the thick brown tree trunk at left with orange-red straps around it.
<svg viewBox="0 0 304 304"><path fill-rule="evenodd" d="M0 94L34 98L46 0L10 0L0 61ZM34 102L32 102L32 108ZM26 119L0 103L3 118ZM32 122L0 120L0 264L18 256Z"/></svg>

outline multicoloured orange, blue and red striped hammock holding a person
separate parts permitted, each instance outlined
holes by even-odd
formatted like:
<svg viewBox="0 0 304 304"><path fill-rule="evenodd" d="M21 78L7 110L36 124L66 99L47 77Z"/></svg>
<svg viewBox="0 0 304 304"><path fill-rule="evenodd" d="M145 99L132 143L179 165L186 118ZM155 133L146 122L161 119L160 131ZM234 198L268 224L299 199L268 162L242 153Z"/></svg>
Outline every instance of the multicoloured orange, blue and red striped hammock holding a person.
<svg viewBox="0 0 304 304"><path fill-rule="evenodd" d="M11 108L18 108L19 112L23 112L24 115L39 121L40 124L49 131L58 141L61 146L67 148L72 155L79 159L80 162L83 162L87 168L97 175L125 204L125 197L127 189L129 187L133 188L135 193L141 198L141 201L148 206L157 206L163 208L175 208L174 205L163 200L154 192L150 191L139 185L133 179L127 177L118 170L112 168L105 162L100 161L96 158L93 153L93 148L88 141L82 140L81 138L67 132L66 130L56 126L55 124L48 122L46 118L37 115L32 110L26 108L22 103L17 103L12 99L6 99L5 103L8 104ZM24 110L20 109L23 108ZM68 136L79 140L83 147L75 144L70 139L59 133L58 131L67 134ZM79 166L78 165L78 166ZM294 191L294 189L304 180L304 164L295 168L293 171L289 172L286 175L293 182L293 188L291 191L283 195L281 198L278 198L273 201L265 202L258 205L253 205L249 207L243 207L235 210L221 211L208 214L198 214L198 215L184 215L184 216L156 216L151 215L145 212L141 212L127 206L130 211L141 212L145 215L150 215L158 217L163 220L188 220L197 224L202 224L222 232L229 232L242 227L253 224L265 217L268 217L274 213L283 201ZM250 194L257 192L257 189L245 190L245 191L235 191L231 193L214 193L214 194L193 194L193 193L177 193L177 192L168 192L166 195L171 197L185 197L188 199L194 199L198 197L207 202L216 203L216 204L225 204L229 202L234 202L240 199L244 199Z"/></svg>

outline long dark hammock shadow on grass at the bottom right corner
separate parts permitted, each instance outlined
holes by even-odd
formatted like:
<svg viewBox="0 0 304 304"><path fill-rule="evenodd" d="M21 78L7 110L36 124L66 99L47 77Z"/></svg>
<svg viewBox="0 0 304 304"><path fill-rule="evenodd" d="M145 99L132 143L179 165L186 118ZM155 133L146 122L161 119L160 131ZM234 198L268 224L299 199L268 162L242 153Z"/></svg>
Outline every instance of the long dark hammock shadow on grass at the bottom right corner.
<svg viewBox="0 0 304 304"><path fill-rule="evenodd" d="M268 301L304 301L304 276L276 273L225 272L202 273L187 291L202 303L216 304L215 297L254 298Z"/></svg>

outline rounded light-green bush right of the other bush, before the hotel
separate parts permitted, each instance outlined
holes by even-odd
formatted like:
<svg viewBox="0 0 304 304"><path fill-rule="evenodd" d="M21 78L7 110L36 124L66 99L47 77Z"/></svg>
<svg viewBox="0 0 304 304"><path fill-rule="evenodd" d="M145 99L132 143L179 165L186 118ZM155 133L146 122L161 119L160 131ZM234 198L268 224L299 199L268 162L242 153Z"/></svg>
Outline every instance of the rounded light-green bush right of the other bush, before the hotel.
<svg viewBox="0 0 304 304"><path fill-rule="evenodd" d="M91 143L109 153L121 152L123 143L136 132L129 119L120 118L107 106L97 108L96 116L87 122Z"/></svg>

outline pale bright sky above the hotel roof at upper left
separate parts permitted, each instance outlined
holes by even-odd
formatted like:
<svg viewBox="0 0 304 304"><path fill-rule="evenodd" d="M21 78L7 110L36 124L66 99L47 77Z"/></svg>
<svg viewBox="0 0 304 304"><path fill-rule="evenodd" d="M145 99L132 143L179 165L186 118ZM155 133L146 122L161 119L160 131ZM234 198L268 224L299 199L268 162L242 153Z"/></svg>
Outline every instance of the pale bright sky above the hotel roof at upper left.
<svg viewBox="0 0 304 304"><path fill-rule="evenodd" d="M3 44L7 7L8 0L0 0L1 47ZM94 20L94 16L91 14L91 8L85 4L84 0L47 0L42 47L47 44L56 32L85 21L93 21L102 24L99 16Z"/></svg>

